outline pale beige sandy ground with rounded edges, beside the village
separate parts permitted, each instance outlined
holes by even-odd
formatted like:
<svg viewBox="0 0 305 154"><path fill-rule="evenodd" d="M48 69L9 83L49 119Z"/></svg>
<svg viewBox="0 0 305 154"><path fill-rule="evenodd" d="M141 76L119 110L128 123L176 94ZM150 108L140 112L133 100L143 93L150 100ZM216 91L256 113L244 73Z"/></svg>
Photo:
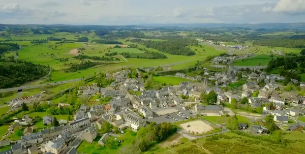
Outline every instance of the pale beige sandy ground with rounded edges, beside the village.
<svg viewBox="0 0 305 154"><path fill-rule="evenodd" d="M187 127L188 125L190 125L190 127ZM190 122L186 122L184 124L180 124L180 126L186 130L186 131L190 131L191 133L194 132L198 132L199 134L205 133L205 132L209 132L211 130L214 130L211 126L207 125L205 122L201 121L201 120L196 120L196 121L190 121ZM197 133L196 133L197 134Z"/></svg>

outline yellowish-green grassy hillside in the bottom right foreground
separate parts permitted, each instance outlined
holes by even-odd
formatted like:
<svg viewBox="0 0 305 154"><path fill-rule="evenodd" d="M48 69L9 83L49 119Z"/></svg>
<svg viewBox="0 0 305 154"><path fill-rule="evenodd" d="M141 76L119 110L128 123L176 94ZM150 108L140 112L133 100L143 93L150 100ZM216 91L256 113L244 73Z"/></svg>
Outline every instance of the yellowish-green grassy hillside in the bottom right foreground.
<svg viewBox="0 0 305 154"><path fill-rule="evenodd" d="M285 132L285 131L284 131ZM287 133L287 132L285 132ZM195 141L189 141L181 138L175 144L166 144L171 140L166 140L149 150L144 151L146 154L240 154L240 153L270 153L270 154L286 154L286 153L303 153L305 150L304 134L300 132L289 132L283 135L284 139L288 139L287 144L275 142L276 136L242 136L237 133L230 132L211 137L200 138ZM297 141L295 141L297 140ZM166 145L166 147L164 147Z"/></svg>

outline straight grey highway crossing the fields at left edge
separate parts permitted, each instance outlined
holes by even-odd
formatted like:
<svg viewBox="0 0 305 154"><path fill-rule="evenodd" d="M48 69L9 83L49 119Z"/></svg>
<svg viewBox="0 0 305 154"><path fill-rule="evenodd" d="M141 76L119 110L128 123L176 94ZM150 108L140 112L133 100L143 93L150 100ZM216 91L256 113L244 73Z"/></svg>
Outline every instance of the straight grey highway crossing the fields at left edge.
<svg viewBox="0 0 305 154"><path fill-rule="evenodd" d="M19 86L19 87L13 87L13 88L7 88L7 89L0 89L0 93L3 92L8 92L8 91L17 91L21 89L32 89L32 88L38 88L42 86L48 86L48 85L57 85L57 84L65 84L69 82L74 82L74 81L80 81L80 79L73 79L73 80L67 80L67 81L58 81L58 82L52 82L52 83L44 83L44 84L37 84L37 85L27 85L27 86Z"/></svg>

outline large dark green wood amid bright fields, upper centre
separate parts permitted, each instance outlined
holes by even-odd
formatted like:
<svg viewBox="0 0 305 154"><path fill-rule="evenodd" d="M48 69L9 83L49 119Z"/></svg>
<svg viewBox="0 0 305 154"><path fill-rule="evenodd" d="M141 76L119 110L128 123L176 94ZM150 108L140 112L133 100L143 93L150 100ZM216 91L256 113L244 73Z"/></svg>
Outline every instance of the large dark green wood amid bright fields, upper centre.
<svg viewBox="0 0 305 154"><path fill-rule="evenodd" d="M190 39L176 39L168 41L141 41L141 44L146 48L157 49L161 52L173 54L173 55L195 55L196 53L189 47L196 42L192 42ZM198 45L198 42L197 42Z"/></svg>

